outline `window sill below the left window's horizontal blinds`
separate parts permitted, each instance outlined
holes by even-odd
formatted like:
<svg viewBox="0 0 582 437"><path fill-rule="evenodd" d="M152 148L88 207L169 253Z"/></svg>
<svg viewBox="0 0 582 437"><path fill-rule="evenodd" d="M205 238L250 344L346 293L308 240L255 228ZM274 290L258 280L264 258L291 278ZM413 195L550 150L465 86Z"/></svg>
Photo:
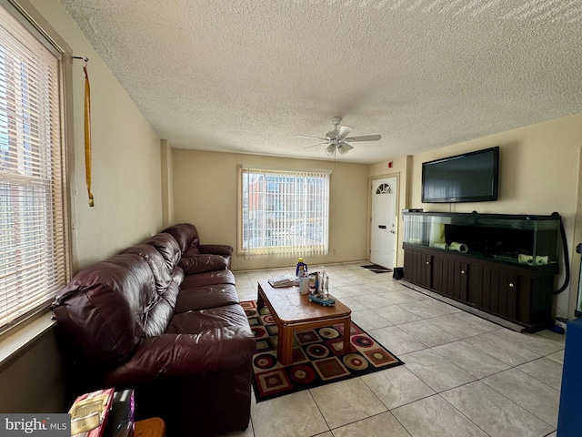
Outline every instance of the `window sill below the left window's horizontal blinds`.
<svg viewBox="0 0 582 437"><path fill-rule="evenodd" d="M33 320L22 326L8 330L0 337L0 371L10 365L20 353L29 348L36 339L51 330L55 320L51 320L51 311L43 311Z"/></svg>

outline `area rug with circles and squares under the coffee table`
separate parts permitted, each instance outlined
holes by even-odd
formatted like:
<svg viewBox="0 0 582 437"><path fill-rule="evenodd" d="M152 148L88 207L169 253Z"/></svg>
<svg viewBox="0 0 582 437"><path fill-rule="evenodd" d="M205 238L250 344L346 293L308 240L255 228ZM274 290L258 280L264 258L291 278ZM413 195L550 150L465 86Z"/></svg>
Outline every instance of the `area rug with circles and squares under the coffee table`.
<svg viewBox="0 0 582 437"><path fill-rule="evenodd" d="M293 361L284 366L276 359L277 327L268 308L257 310L256 301L241 305L256 338L257 402L404 364L352 321L348 351L343 351L343 324L296 331Z"/></svg>

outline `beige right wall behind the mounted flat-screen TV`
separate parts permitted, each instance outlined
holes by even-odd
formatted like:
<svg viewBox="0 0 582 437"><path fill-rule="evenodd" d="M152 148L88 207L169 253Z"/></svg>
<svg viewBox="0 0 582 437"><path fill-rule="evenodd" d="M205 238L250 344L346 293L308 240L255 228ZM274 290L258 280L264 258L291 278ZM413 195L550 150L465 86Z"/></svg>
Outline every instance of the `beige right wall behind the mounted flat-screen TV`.
<svg viewBox="0 0 582 437"><path fill-rule="evenodd" d="M421 198L422 163L445 158L471 150L500 146L499 199L497 202L423 204ZM489 137L441 147L410 157L410 166L395 159L394 169L408 171L405 178L409 204L402 208L424 208L428 211L471 212L502 214L551 214L557 211L563 219L572 277L570 287L557 296L558 314L573 316L577 294L577 275L580 257L575 246L582 237L578 182L582 147L582 114L562 117L537 125L521 127ZM386 162L370 167L370 175L386 171ZM403 180L403 178L401 178ZM398 240L402 257L402 238ZM400 258L402 259L402 258ZM561 268L556 286L565 277ZM572 290L572 292L570 292Z"/></svg>

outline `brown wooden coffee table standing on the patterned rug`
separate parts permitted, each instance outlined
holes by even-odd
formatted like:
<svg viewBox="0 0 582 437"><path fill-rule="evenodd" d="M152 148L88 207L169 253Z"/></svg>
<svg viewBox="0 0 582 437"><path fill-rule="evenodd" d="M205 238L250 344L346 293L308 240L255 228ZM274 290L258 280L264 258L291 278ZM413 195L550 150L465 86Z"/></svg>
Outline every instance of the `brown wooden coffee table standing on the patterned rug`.
<svg viewBox="0 0 582 437"><path fill-rule="evenodd" d="M334 298L335 299L335 298ZM276 346L277 360L291 364L293 360L293 333L296 330L310 330L338 323L344 324L344 351L348 351L352 310L336 299L333 307L324 307L307 300L296 287L271 287L268 280L258 281L256 308L264 306L271 311L278 329Z"/></svg>

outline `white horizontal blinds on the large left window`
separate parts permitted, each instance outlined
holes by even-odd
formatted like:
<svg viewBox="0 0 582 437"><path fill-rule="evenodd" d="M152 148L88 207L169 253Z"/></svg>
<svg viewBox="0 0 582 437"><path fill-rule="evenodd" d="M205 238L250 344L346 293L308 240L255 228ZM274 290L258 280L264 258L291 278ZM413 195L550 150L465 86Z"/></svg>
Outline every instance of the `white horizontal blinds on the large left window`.
<svg viewBox="0 0 582 437"><path fill-rule="evenodd" d="M59 67L0 5L0 330L68 279Z"/></svg>

